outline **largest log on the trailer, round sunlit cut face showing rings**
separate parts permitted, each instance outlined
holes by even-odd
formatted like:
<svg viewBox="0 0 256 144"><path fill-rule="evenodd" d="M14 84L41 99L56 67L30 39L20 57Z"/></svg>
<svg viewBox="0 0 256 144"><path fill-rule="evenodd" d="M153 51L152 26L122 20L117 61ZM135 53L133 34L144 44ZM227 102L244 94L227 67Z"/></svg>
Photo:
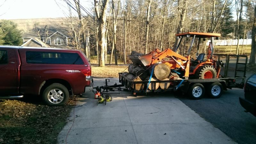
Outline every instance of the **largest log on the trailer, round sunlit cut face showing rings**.
<svg viewBox="0 0 256 144"><path fill-rule="evenodd" d="M151 74L152 69L153 69L153 66L148 70L149 75ZM158 80L162 81L170 75L170 72L171 72L171 69L167 64L159 63L159 64L156 64L154 67L153 76L156 77Z"/></svg>

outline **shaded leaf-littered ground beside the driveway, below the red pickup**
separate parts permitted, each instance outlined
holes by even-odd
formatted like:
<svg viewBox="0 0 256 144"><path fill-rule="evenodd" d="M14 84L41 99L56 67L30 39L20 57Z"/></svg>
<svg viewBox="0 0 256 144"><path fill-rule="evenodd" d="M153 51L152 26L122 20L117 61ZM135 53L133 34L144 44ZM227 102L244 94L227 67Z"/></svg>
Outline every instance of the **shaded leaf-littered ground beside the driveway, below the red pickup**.
<svg viewBox="0 0 256 144"><path fill-rule="evenodd" d="M44 105L37 98L0 100L0 143L57 142L75 102L70 98L66 105L53 107Z"/></svg>

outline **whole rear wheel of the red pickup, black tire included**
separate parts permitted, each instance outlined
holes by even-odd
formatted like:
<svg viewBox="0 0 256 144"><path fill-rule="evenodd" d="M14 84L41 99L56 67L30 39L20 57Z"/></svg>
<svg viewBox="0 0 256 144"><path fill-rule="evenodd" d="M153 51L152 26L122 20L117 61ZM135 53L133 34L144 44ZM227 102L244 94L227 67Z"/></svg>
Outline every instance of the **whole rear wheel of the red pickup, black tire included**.
<svg viewBox="0 0 256 144"><path fill-rule="evenodd" d="M59 106L67 103L69 92L64 85L60 83L52 83L44 89L42 96L47 105Z"/></svg>

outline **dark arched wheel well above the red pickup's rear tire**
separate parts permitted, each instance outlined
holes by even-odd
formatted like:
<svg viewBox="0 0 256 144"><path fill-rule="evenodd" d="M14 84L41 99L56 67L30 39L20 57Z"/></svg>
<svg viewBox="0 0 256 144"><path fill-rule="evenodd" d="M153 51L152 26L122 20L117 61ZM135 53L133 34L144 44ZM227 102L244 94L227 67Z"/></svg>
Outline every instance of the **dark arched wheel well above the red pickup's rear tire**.
<svg viewBox="0 0 256 144"><path fill-rule="evenodd" d="M42 95L44 89L47 88L47 86L51 85L52 83L63 84L68 89L69 95L72 95L72 88L70 84L63 79L49 79L44 81L39 88L39 95Z"/></svg>

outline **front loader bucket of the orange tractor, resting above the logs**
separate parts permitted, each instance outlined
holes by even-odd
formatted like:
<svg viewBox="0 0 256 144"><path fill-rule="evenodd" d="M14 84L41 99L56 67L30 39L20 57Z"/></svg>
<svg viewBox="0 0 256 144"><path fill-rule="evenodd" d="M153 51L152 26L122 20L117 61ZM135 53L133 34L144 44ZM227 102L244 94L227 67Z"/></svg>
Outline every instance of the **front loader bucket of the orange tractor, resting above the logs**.
<svg viewBox="0 0 256 144"><path fill-rule="evenodd" d="M133 63L147 66L151 62L152 55L151 54L145 54L145 55L140 55L140 56L128 55L128 58L130 58Z"/></svg>

